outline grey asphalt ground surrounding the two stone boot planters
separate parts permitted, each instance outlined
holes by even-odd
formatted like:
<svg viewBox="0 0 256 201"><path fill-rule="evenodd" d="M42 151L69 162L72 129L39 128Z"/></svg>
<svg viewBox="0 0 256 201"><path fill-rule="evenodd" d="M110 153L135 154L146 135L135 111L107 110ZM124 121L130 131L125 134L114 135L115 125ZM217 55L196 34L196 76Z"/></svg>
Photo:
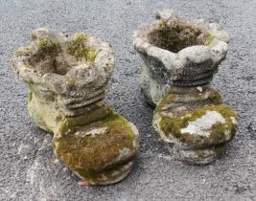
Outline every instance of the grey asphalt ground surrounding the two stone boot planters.
<svg viewBox="0 0 256 201"><path fill-rule="evenodd" d="M151 126L141 99L142 60L132 31L159 9L220 23L231 34L227 58L213 84L240 115L236 138L205 167L175 161ZM140 132L137 163L124 181L82 188L54 156L52 136L27 113L28 89L14 78L14 50L35 28L93 33L112 44L116 69L107 101ZM254 0L0 0L0 200L256 200L256 1Z"/></svg>

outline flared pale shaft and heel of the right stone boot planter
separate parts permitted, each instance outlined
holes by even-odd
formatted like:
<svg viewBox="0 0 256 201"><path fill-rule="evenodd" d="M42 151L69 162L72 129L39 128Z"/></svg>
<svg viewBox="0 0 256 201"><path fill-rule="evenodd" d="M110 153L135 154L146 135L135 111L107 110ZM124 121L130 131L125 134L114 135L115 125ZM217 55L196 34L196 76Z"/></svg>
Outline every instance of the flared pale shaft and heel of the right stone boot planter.
<svg viewBox="0 0 256 201"><path fill-rule="evenodd" d="M141 90L155 106L170 85L198 86L209 83L224 59L228 33L216 23L188 20L175 11L158 11L150 26L134 32L133 46L145 62Z"/></svg>

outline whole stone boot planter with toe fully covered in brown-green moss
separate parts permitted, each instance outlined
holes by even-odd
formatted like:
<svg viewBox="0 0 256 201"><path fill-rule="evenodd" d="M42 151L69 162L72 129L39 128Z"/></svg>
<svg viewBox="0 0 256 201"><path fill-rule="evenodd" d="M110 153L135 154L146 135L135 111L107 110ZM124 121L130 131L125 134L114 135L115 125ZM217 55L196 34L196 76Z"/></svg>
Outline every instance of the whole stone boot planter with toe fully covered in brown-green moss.
<svg viewBox="0 0 256 201"><path fill-rule="evenodd" d="M44 28L32 38L12 60L15 74L32 91L31 117L54 133L54 153L85 184L122 180L138 151L138 131L105 106L114 65L110 46L84 33L68 36Z"/></svg>

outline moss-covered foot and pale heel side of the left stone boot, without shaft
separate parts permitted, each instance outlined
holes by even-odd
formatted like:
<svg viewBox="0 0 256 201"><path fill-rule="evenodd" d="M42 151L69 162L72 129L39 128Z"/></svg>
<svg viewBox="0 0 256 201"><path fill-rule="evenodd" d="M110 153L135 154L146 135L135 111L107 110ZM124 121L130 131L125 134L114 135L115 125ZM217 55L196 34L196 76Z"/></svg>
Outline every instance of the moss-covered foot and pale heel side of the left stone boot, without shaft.
<svg viewBox="0 0 256 201"><path fill-rule="evenodd" d="M138 152L138 131L111 108L66 117L54 101L41 101L33 92L28 108L40 128L54 133L54 153L82 180L106 185L128 175Z"/></svg>

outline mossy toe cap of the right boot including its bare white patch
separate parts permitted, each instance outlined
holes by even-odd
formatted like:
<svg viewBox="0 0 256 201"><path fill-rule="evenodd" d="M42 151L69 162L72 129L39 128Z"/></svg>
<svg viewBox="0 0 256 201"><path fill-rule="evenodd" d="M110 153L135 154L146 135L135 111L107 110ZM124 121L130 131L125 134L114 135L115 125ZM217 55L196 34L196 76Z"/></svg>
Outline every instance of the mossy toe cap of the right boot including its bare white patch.
<svg viewBox="0 0 256 201"><path fill-rule="evenodd" d="M170 142L186 148L203 148L230 141L236 132L236 118L230 107L220 104L199 107L181 116L156 114L154 122Z"/></svg>

